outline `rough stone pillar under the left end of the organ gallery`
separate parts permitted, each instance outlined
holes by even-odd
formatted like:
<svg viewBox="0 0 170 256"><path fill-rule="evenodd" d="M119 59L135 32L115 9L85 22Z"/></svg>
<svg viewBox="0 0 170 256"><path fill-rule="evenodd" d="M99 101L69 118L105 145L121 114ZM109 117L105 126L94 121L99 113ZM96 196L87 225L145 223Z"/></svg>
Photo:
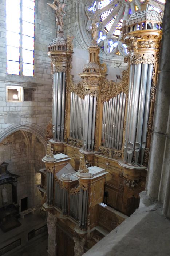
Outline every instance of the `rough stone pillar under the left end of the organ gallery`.
<svg viewBox="0 0 170 256"><path fill-rule="evenodd" d="M48 255L56 256L56 227L57 217L48 212L47 227L48 227Z"/></svg>

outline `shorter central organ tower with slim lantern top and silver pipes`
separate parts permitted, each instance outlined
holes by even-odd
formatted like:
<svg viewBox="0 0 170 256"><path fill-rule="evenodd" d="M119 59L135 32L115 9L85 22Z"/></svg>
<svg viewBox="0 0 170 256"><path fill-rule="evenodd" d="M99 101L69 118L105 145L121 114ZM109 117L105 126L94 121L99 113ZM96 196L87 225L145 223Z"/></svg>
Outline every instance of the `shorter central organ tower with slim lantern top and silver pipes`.
<svg viewBox="0 0 170 256"><path fill-rule="evenodd" d="M83 79L84 96L84 122L83 122L83 148L85 151L97 150L95 143L98 140L98 121L100 98L100 84L106 76L106 65L99 62L99 50L96 40L88 47L89 63L83 68L80 77Z"/></svg>

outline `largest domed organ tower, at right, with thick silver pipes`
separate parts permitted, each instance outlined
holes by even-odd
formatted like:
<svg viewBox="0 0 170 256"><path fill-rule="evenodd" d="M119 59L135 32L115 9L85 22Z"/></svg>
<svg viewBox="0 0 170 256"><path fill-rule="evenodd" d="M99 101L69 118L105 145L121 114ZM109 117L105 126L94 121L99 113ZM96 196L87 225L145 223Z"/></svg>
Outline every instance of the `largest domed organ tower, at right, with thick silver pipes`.
<svg viewBox="0 0 170 256"><path fill-rule="evenodd" d="M161 26L161 16L156 11L147 10L147 4L143 3L141 11L129 18L123 35L130 54L130 78L124 159L119 161L119 165L123 167L124 176L131 180L139 179L140 172L146 169L147 164L144 157L146 148L150 147L147 139L148 120L152 121L154 109L152 96Z"/></svg>

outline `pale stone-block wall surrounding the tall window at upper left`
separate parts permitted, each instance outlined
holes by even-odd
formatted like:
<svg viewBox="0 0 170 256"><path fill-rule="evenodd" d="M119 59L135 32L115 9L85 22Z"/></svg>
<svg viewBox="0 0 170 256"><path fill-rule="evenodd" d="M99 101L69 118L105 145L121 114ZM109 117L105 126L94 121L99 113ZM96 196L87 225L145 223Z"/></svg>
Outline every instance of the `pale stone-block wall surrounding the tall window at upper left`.
<svg viewBox="0 0 170 256"><path fill-rule="evenodd" d="M51 1L52 2L52 1ZM0 2L0 133L11 125L29 122L45 132L52 116L52 75L48 44L55 38L55 14L46 0L35 1L35 76L7 75L6 1ZM33 101L7 102L6 86L34 89Z"/></svg>

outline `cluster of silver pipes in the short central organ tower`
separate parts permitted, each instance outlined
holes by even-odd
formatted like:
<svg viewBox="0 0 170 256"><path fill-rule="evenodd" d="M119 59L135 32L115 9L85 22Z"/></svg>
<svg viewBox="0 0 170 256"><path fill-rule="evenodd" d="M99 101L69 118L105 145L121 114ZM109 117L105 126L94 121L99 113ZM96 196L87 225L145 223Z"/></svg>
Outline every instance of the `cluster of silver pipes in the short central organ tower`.
<svg viewBox="0 0 170 256"><path fill-rule="evenodd" d="M86 95L84 98L83 147L93 150L96 120L96 96Z"/></svg>

